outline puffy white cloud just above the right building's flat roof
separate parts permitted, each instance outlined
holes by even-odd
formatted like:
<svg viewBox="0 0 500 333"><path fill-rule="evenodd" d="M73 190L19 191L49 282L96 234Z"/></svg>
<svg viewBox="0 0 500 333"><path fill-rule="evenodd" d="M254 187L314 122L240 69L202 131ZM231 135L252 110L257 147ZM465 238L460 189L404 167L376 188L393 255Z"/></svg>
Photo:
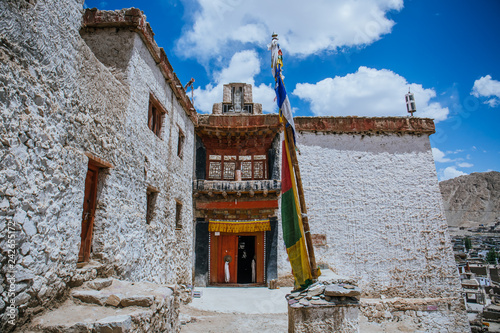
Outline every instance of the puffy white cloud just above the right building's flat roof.
<svg viewBox="0 0 500 333"><path fill-rule="evenodd" d="M293 94L311 103L317 116L406 116L405 94L408 87L415 95L415 116L445 120L448 108L437 102L434 89L409 84L406 79L387 69L361 66L356 73L326 78L316 84L299 83Z"/></svg>

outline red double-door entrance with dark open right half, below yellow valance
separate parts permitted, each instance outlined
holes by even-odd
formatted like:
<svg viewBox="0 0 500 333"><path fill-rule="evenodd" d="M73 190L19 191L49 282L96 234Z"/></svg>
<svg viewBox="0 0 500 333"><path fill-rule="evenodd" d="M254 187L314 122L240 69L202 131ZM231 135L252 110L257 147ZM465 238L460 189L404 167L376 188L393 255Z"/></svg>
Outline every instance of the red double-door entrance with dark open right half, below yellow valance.
<svg viewBox="0 0 500 333"><path fill-rule="evenodd" d="M211 285L264 285L264 231L210 233Z"/></svg>

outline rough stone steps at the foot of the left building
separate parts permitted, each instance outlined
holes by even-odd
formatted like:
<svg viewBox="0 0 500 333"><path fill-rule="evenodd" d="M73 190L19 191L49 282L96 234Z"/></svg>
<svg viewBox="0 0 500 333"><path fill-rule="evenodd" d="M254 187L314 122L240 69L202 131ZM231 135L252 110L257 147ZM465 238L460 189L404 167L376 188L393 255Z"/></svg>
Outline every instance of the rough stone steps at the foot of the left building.
<svg viewBox="0 0 500 333"><path fill-rule="evenodd" d="M148 282L96 279L71 290L57 309L37 316L22 332L179 331L174 287Z"/></svg>

